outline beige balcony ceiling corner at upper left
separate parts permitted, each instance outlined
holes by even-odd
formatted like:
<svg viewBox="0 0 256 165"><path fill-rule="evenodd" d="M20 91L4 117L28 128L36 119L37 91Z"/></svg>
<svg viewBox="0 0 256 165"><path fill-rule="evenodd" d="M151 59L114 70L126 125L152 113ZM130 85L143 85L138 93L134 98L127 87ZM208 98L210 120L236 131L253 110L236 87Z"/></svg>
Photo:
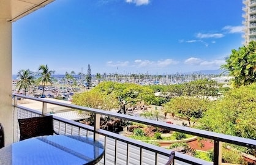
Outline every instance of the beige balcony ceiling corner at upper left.
<svg viewBox="0 0 256 165"><path fill-rule="evenodd" d="M13 22L55 0L0 0L0 19Z"/></svg>

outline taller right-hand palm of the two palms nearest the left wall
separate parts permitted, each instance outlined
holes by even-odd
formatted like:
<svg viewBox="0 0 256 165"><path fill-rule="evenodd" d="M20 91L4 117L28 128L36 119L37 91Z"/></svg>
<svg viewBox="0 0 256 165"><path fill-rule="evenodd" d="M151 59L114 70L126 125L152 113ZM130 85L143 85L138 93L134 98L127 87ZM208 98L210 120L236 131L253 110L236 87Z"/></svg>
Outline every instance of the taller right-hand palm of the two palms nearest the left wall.
<svg viewBox="0 0 256 165"><path fill-rule="evenodd" d="M53 73L55 73L55 71L49 70L47 65L40 65L38 70L39 70L38 81L42 82L43 91L44 91L46 84L48 84L48 83L53 84L53 78L51 77L51 75L53 75ZM43 92L42 92L42 96L43 96Z"/></svg>

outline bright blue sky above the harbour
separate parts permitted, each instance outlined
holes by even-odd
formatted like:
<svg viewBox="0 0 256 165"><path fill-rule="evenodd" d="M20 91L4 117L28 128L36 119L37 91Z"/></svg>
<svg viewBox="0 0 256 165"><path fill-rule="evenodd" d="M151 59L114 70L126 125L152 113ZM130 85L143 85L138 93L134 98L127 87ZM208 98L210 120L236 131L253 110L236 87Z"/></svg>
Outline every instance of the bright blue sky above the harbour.
<svg viewBox="0 0 256 165"><path fill-rule="evenodd" d="M243 46L242 0L55 0L13 23L13 74L216 70Z"/></svg>

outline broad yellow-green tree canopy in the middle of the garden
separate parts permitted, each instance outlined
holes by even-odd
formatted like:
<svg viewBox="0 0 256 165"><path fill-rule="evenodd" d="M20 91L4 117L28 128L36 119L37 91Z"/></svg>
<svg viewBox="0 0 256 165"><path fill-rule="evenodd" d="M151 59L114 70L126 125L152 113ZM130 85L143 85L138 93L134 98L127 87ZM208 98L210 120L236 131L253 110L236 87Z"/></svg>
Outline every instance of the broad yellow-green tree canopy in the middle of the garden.
<svg viewBox="0 0 256 165"><path fill-rule="evenodd" d="M112 81L100 82L96 87L91 89L89 93L94 93L102 98L102 102L97 105L102 109L120 109L120 112L126 114L127 105L135 105L138 101L151 101L154 98L154 92L147 86L140 86L130 83L119 83ZM86 93L88 94L88 93ZM78 94L82 95L82 94ZM77 105L83 105L77 101L78 96L73 97L73 102Z"/></svg>

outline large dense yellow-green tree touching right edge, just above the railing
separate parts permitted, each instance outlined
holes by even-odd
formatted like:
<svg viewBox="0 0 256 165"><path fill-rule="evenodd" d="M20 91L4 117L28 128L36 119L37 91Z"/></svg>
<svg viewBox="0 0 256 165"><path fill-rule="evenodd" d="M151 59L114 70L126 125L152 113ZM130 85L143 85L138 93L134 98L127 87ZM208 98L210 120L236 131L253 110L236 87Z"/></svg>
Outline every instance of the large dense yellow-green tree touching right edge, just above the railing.
<svg viewBox="0 0 256 165"><path fill-rule="evenodd" d="M200 128L217 133L256 139L256 84L228 91L214 101L200 120Z"/></svg>

